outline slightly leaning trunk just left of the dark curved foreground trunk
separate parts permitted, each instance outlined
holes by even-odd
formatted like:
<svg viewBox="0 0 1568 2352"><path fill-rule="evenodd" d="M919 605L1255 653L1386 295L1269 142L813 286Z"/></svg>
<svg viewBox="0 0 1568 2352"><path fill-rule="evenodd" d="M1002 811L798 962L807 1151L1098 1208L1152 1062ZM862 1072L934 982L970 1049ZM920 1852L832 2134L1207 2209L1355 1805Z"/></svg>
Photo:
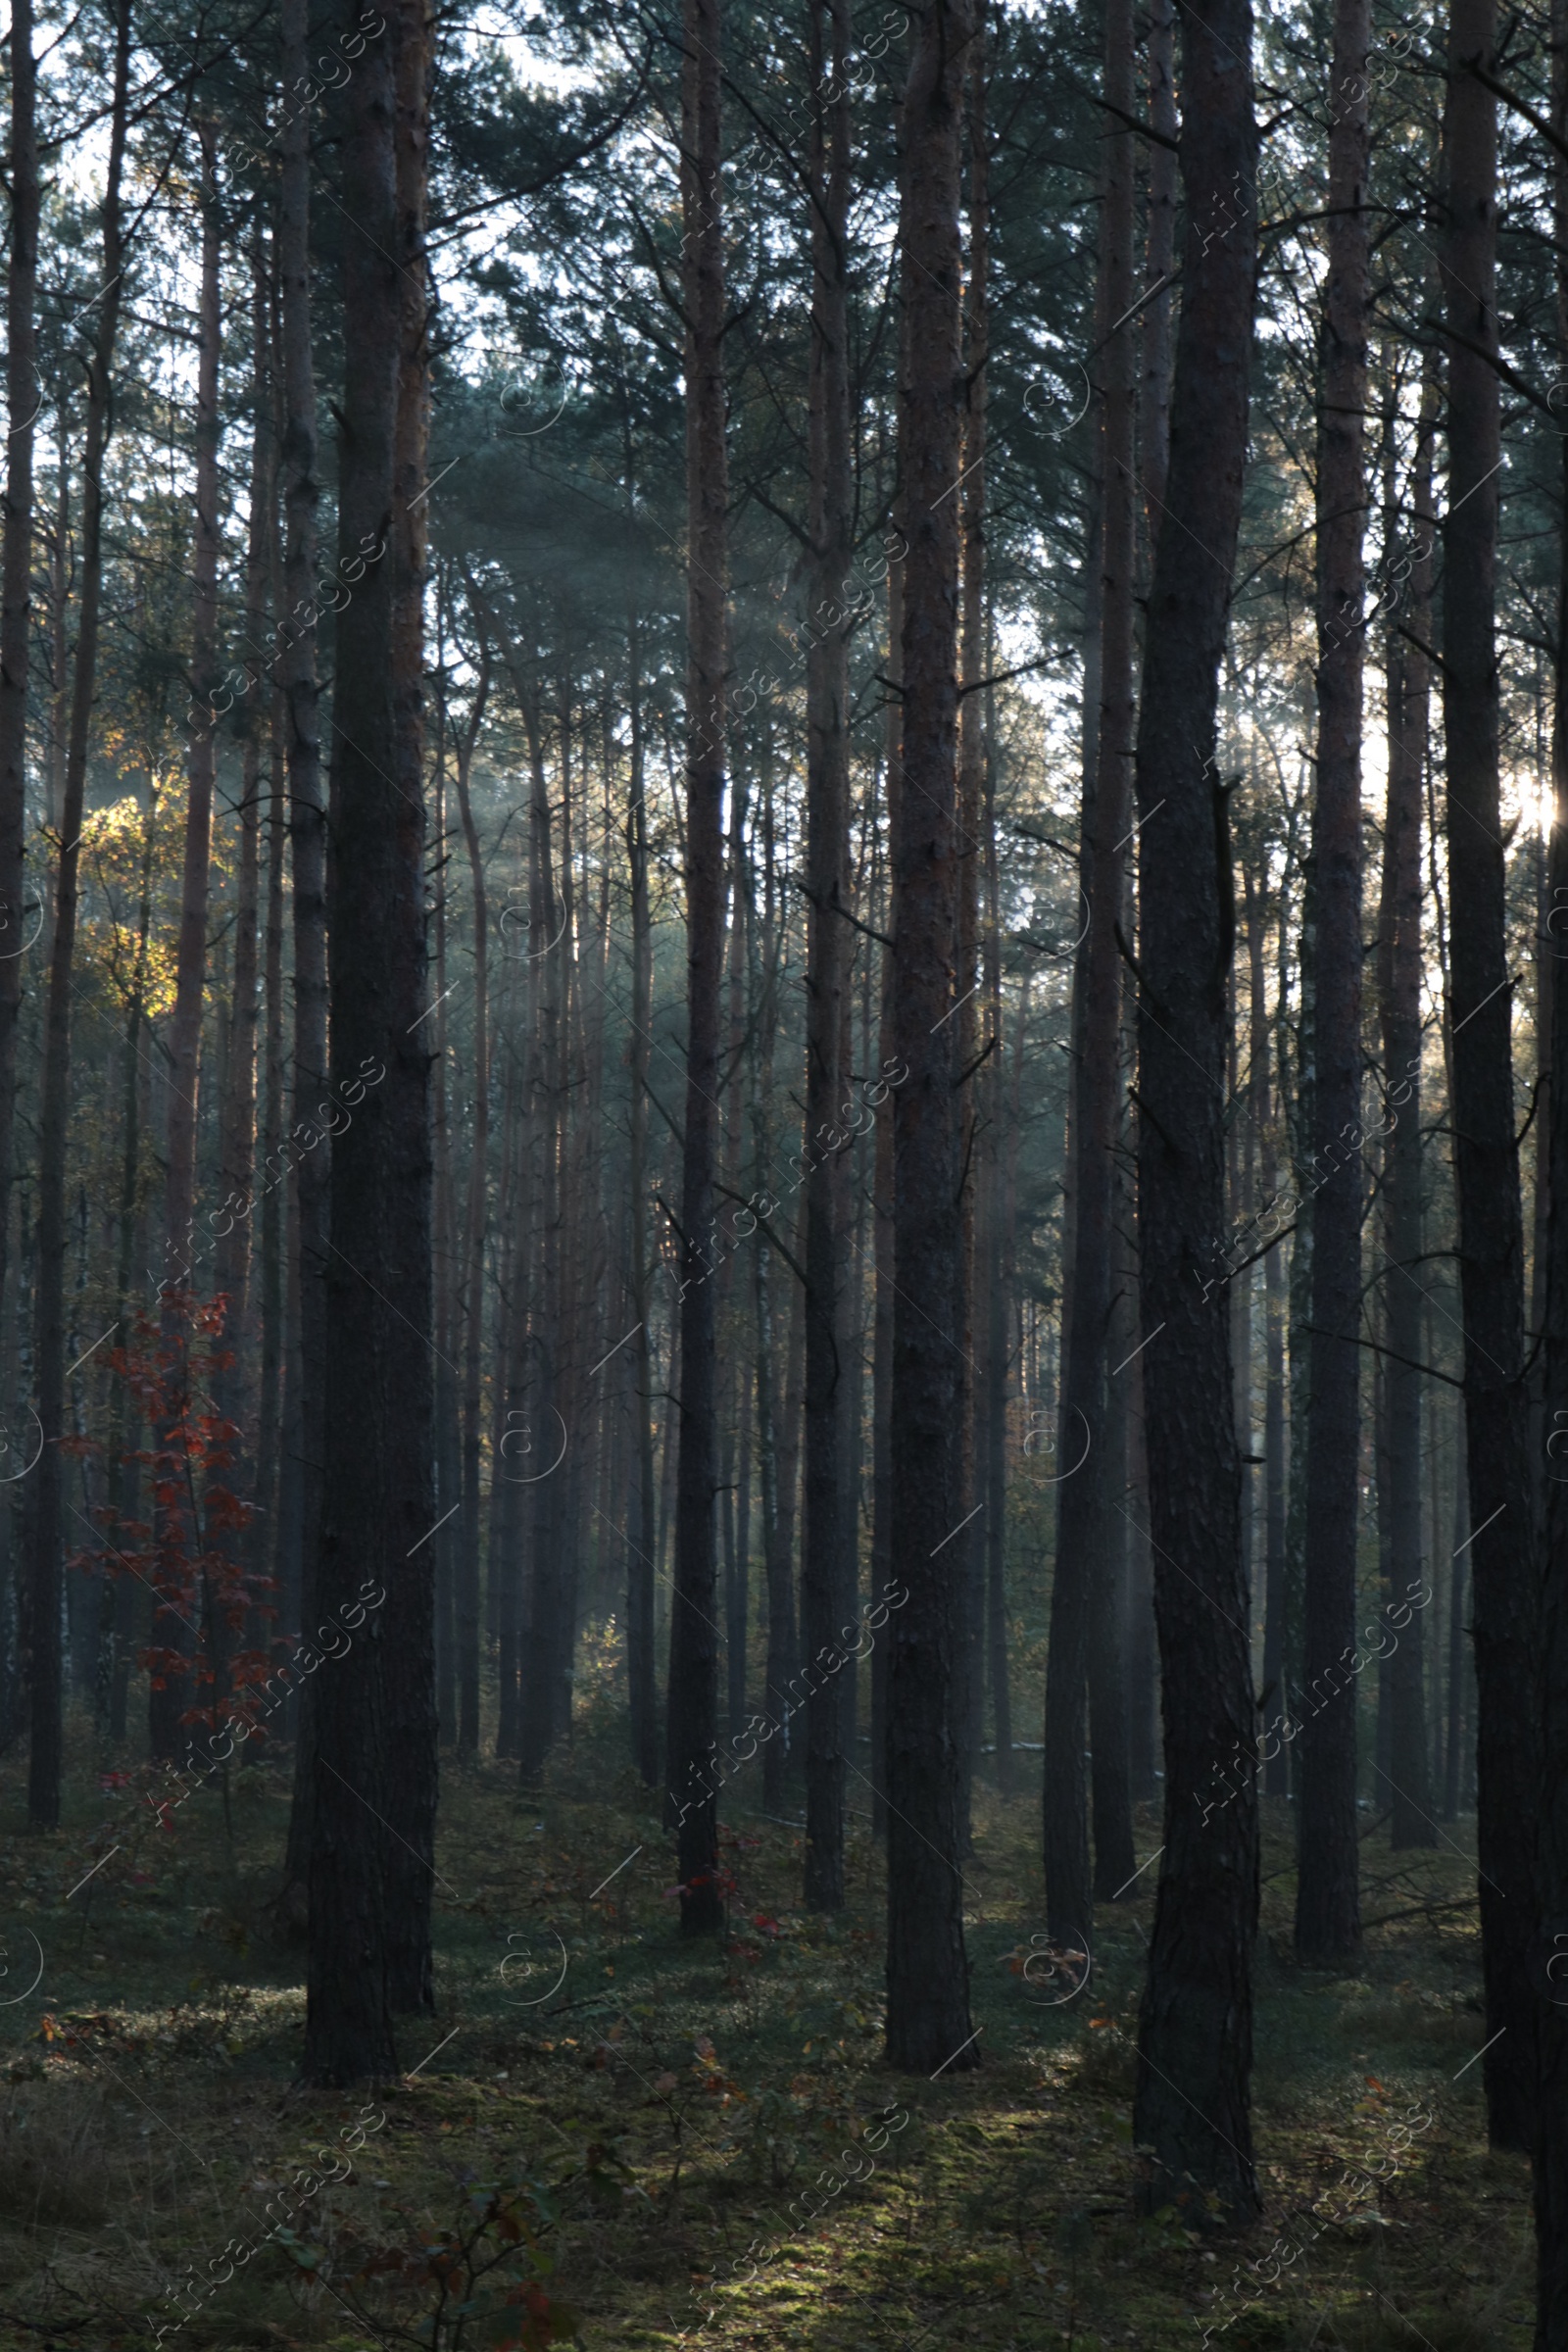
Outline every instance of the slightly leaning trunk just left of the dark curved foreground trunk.
<svg viewBox="0 0 1568 2352"><path fill-rule="evenodd" d="M1046 1933L1079 1945L1093 1933L1088 1875L1088 1802L1084 1780L1084 1703L1095 1578L1114 1501L1110 1491L1107 1406L1112 1338L1112 1200L1117 1167L1121 1042L1121 868L1128 833L1133 748L1133 339L1112 334L1133 299L1133 143L1124 115L1133 106L1133 12L1114 0L1105 16L1105 195L1100 212L1100 708L1093 760L1084 774L1079 880L1091 920L1077 960L1077 1056L1072 1068L1074 1230L1072 1312L1063 1364L1063 1461L1081 1463L1058 1489L1056 1583L1046 1661L1044 1863ZM1105 1712L1105 1710L1103 1710ZM1107 1738L1112 1724L1103 1724ZM1124 1729L1121 1729L1124 1745ZM1117 1818L1107 1823L1110 1893L1133 1870L1121 1757Z"/></svg>

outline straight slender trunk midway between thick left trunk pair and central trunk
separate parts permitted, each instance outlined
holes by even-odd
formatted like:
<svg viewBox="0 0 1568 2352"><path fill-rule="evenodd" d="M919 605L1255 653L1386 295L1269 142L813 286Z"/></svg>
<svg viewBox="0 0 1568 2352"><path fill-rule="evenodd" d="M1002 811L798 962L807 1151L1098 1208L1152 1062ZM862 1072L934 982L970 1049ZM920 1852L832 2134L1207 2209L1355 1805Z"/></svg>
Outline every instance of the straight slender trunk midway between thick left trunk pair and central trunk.
<svg viewBox="0 0 1568 2352"><path fill-rule="evenodd" d="M682 1933L715 1936L719 1900L717 1799L701 1778L717 1736L715 1541L717 1352L715 1289L701 1249L712 1232L719 978L724 969L724 221L719 183L719 0L684 0L682 223L686 313L686 1122L679 1232L679 1470L675 1602L670 1609L670 1806ZM684 1806L684 1811L682 1811Z"/></svg>

